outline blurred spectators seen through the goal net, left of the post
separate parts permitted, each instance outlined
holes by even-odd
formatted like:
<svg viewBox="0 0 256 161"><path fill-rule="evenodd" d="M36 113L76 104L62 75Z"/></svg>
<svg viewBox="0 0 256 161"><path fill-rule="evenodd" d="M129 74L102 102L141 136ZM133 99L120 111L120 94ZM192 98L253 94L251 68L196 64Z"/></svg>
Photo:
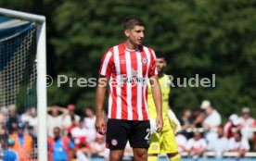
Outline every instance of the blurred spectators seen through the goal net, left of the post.
<svg viewBox="0 0 256 161"><path fill-rule="evenodd" d="M16 105L0 110L0 156L4 161L26 161L37 158L37 110L27 108L19 115Z"/></svg>

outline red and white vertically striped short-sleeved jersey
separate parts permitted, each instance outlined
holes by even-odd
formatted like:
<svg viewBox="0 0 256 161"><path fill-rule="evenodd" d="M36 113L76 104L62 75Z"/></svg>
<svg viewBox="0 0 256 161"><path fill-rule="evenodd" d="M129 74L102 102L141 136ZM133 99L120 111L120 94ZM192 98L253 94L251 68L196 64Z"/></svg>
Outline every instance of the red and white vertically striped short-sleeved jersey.
<svg viewBox="0 0 256 161"><path fill-rule="evenodd" d="M158 74L151 48L113 46L102 57L99 74L110 77L108 118L148 120L147 79Z"/></svg>

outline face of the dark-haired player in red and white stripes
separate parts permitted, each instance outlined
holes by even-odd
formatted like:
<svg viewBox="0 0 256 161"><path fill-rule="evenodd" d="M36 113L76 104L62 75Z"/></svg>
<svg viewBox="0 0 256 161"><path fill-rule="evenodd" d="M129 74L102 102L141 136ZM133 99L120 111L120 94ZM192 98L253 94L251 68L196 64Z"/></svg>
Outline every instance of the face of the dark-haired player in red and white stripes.
<svg viewBox="0 0 256 161"><path fill-rule="evenodd" d="M126 30L125 35L134 45L140 45L144 38L145 27L134 26L132 30Z"/></svg>

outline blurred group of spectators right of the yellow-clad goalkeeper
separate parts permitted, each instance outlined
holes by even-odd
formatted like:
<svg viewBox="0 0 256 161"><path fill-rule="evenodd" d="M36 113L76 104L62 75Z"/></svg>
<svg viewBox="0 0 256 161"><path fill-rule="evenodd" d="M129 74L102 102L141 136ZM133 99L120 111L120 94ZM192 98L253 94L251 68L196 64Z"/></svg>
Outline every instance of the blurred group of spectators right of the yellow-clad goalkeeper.
<svg viewBox="0 0 256 161"><path fill-rule="evenodd" d="M180 118L182 130L176 134L179 152L199 157L204 152L214 152L222 157L224 152L237 152L237 158L256 150L256 119L250 117L250 108L243 107L241 116L232 114L222 122L220 113L205 100L200 108L185 109Z"/></svg>

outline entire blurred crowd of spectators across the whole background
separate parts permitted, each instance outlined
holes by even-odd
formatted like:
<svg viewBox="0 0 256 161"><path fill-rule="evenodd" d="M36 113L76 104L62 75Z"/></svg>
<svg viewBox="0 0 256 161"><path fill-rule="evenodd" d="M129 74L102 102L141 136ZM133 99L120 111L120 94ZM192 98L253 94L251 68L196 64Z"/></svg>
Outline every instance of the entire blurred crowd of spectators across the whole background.
<svg viewBox="0 0 256 161"><path fill-rule="evenodd" d="M19 114L15 105L1 107L0 152L2 160L20 161L37 159L38 119L36 108L27 108ZM175 113L175 112L174 112ZM107 115L105 114L107 121ZM237 152L242 157L256 150L256 120L250 117L250 108L244 107L241 115L232 114L227 122L205 100L200 108L185 109L179 118L181 129L176 133L179 152L188 157L200 157L213 152L222 157L224 152ZM96 132L94 107L84 108L77 115L74 105L47 107L47 148L49 160L86 161L91 157L109 160L105 136ZM125 157L132 157L127 144Z"/></svg>

